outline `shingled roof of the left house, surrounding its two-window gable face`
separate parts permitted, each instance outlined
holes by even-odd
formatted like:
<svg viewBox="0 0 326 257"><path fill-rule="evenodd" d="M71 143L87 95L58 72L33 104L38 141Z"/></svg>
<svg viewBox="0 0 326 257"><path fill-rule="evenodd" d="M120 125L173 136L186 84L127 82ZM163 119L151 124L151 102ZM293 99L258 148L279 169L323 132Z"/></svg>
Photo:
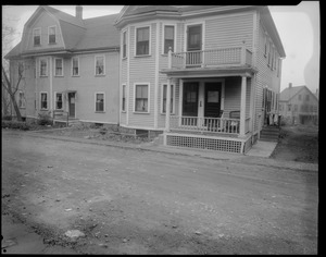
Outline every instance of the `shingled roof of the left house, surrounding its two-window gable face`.
<svg viewBox="0 0 326 257"><path fill-rule="evenodd" d="M83 50L96 50L96 49L110 49L120 47L120 34L114 26L114 21L118 14L111 14L100 17L79 19L61 12L51 7L39 7L30 19L26 22L26 25L32 24L42 11L50 13L54 19L58 19L62 37L65 44L66 51L83 51ZM22 41L17 44L4 58L11 59L18 57L20 54L32 54L40 52L51 52L51 49L38 50L38 51L22 51ZM53 49L58 50L58 49Z"/></svg>

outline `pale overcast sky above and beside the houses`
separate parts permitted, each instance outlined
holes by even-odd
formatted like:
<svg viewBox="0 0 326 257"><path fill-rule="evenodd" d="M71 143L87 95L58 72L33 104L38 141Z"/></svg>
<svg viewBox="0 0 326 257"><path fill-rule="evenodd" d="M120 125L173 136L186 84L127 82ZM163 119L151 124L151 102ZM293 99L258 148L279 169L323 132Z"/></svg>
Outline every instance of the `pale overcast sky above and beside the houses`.
<svg viewBox="0 0 326 257"><path fill-rule="evenodd" d="M75 5L51 5L75 15ZM11 19L16 27L14 47L22 38L24 24L38 5L2 5L2 20ZM123 5L83 5L83 17L118 13ZM286 51L283 60L281 86L306 85L312 93L319 87L319 2L303 1L299 5L268 7Z"/></svg>

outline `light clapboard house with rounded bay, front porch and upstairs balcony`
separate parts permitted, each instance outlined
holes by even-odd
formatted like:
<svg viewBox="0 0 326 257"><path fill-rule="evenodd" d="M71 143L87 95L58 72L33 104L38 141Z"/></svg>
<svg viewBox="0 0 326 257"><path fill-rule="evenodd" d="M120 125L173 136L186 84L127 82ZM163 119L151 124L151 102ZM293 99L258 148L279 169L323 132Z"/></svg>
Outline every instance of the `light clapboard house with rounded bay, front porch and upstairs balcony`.
<svg viewBox="0 0 326 257"><path fill-rule="evenodd" d="M168 146L246 152L266 107L277 112L285 51L267 7L127 5L115 26L121 126L164 131Z"/></svg>

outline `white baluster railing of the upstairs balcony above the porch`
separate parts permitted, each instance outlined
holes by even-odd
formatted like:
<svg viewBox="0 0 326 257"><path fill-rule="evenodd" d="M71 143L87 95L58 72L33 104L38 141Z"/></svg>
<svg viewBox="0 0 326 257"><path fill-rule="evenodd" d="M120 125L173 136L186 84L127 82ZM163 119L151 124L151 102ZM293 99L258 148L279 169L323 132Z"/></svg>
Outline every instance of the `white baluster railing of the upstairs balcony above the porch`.
<svg viewBox="0 0 326 257"><path fill-rule="evenodd" d="M252 52L244 46L201 51L168 51L168 69L240 66L252 64Z"/></svg>

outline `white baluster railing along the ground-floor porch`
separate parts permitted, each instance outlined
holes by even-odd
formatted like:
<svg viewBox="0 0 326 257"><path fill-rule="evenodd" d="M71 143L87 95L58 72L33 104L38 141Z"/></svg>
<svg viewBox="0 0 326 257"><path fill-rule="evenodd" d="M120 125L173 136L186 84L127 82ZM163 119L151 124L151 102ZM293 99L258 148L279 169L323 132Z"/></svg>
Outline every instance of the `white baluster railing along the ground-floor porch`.
<svg viewBox="0 0 326 257"><path fill-rule="evenodd" d="M210 132L218 134L239 134L240 119L171 115L170 130Z"/></svg>

